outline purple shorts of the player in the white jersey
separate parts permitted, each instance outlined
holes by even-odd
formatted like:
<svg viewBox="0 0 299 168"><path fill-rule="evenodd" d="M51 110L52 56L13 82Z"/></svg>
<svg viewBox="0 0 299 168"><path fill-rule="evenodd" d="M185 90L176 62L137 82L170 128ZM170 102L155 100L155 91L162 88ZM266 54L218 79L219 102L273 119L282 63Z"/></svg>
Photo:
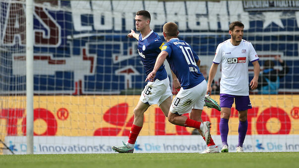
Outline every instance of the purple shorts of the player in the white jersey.
<svg viewBox="0 0 299 168"><path fill-rule="evenodd" d="M228 94L220 94L220 107L231 108L234 103L234 98L235 98L236 109L238 111L245 111L247 109L252 108L249 100L249 96L234 96Z"/></svg>

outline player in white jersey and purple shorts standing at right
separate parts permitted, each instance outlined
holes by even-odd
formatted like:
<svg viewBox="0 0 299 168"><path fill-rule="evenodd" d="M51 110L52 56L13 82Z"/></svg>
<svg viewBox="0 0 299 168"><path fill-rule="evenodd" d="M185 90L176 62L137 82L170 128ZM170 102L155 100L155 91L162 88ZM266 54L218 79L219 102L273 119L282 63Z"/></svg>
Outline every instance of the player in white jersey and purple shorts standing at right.
<svg viewBox="0 0 299 168"><path fill-rule="evenodd" d="M260 66L258 56L250 42L242 39L244 25L235 21L230 24L231 39L220 43L216 49L213 64L210 68L207 94L211 93L211 84L215 77L218 64L221 63L220 107L221 119L219 123L223 148L221 152L228 152L227 136L228 121L231 107L234 103L239 114L239 143L237 152L243 152L243 142L247 132L247 111L251 109L248 87L248 62L253 64L254 77L250 81L250 89L256 89Z"/></svg>

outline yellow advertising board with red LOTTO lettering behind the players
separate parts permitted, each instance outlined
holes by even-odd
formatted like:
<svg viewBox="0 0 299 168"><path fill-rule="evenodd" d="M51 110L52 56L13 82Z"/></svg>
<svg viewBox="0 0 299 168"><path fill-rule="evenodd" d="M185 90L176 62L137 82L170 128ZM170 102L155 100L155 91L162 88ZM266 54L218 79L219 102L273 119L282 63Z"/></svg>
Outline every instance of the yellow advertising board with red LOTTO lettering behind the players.
<svg viewBox="0 0 299 168"><path fill-rule="evenodd" d="M212 96L219 100L219 96ZM11 96L0 110L0 130L7 136L26 135L26 112ZM34 135L128 136L139 96L39 96L34 98ZM299 95L250 95L248 135L298 135ZM7 118L11 116L10 118ZM211 134L220 135L220 112L204 108L203 120L212 123ZM190 135L192 128L171 124L157 105L144 113L140 135ZM238 135L238 111L232 107L230 135Z"/></svg>

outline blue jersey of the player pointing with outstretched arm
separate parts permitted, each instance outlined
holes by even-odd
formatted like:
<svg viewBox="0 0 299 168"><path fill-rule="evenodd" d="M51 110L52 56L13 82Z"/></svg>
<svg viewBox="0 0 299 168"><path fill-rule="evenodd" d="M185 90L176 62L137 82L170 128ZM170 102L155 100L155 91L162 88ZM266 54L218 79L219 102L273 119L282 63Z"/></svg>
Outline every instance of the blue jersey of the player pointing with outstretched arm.
<svg viewBox="0 0 299 168"><path fill-rule="evenodd" d="M160 36L153 30L144 38L139 34L138 54L145 68L146 76L153 71L157 56L161 53L161 48L164 45ZM167 72L164 64L158 69L154 80L163 80L167 78Z"/></svg>

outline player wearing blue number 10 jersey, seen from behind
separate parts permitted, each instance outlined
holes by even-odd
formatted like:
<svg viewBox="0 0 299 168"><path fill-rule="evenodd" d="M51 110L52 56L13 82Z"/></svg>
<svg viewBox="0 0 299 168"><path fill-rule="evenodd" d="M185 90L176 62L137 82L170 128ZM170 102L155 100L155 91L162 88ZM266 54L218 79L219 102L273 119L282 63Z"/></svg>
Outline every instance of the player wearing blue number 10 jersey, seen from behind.
<svg viewBox="0 0 299 168"><path fill-rule="evenodd" d="M176 125L198 129L208 145L208 148L202 153L219 153L219 149L210 135L211 123L203 122L201 118L207 82L199 70L200 59L188 43L179 40L178 34L176 23L164 24L163 35L167 43L162 47L154 69L148 74L146 80L155 81L158 70L167 59L181 85L179 93L170 107L168 120ZM184 113L190 113L190 118L182 115Z"/></svg>

